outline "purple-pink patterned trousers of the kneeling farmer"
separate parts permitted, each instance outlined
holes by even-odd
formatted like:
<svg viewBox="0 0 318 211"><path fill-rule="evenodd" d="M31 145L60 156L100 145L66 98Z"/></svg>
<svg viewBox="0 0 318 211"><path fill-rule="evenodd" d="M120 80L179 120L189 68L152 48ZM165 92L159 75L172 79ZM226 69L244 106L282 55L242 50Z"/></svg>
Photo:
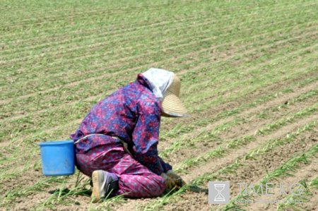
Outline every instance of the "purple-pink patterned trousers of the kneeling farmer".
<svg viewBox="0 0 318 211"><path fill-rule="evenodd" d="M116 195L148 198L159 196L165 191L165 179L126 153L122 143L99 145L87 152L76 153L76 167L87 176L92 176L95 170L116 174L119 179Z"/></svg>

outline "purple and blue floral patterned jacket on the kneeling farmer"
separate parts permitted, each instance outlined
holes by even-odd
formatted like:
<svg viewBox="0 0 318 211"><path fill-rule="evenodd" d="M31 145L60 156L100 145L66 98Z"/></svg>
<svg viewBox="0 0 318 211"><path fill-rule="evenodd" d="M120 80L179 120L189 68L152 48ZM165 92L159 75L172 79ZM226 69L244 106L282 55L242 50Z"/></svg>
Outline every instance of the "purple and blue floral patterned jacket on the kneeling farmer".
<svg viewBox="0 0 318 211"><path fill-rule="evenodd" d="M76 133L71 135L74 141L94 133L105 134L109 138L79 143L76 153L85 153L98 145L119 141L111 138L117 136L129 145L137 161L160 175L172 169L158 156L160 114L159 100L153 95L148 80L139 73L135 82L95 104Z"/></svg>

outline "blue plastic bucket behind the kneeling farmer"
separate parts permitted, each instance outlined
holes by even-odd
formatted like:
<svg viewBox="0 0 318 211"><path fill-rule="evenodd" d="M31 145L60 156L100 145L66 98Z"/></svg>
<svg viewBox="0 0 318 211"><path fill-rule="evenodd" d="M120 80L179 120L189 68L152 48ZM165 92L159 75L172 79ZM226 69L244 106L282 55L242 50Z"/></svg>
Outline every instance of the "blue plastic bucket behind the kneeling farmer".
<svg viewBox="0 0 318 211"><path fill-rule="evenodd" d="M74 174L74 142L62 140L39 143L41 148L42 172L45 176Z"/></svg>

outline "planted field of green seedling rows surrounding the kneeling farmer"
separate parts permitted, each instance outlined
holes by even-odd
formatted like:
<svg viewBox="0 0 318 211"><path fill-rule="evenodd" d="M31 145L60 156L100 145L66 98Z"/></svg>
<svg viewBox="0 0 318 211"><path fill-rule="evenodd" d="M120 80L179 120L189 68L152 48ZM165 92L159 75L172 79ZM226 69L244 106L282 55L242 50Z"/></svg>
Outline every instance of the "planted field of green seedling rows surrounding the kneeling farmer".
<svg viewBox="0 0 318 211"><path fill-rule="evenodd" d="M1 210L317 210L318 2L0 2ZM88 178L42 176L43 140L151 67L182 79L191 116L163 118L160 155L191 186L90 203ZM208 181L300 182L302 205L208 205ZM260 197L255 196L254 200ZM276 195L290 199L293 195Z"/></svg>

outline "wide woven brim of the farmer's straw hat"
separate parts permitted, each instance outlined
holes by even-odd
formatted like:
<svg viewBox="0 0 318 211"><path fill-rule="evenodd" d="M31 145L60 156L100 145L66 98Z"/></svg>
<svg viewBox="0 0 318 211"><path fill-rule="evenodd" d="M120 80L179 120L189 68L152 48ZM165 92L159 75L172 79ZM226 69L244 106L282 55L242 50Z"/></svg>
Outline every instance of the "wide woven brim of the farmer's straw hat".
<svg viewBox="0 0 318 211"><path fill-rule="evenodd" d="M174 116L174 117L187 117L189 116L187 109L181 102L177 95L173 94L169 90L163 96L163 102L161 104L163 108L163 116Z"/></svg>

